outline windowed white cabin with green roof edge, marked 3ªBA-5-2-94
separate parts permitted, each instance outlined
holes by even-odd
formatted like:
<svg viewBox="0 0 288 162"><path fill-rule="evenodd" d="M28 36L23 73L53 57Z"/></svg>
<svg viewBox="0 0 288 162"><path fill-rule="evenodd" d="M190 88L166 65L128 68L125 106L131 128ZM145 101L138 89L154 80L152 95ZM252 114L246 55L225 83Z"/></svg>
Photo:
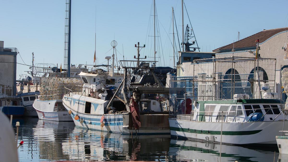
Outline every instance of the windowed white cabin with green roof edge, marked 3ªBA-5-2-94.
<svg viewBox="0 0 288 162"><path fill-rule="evenodd" d="M278 99L195 101L194 106L190 116L194 121L250 122L284 119L284 112L281 110L284 104Z"/></svg>

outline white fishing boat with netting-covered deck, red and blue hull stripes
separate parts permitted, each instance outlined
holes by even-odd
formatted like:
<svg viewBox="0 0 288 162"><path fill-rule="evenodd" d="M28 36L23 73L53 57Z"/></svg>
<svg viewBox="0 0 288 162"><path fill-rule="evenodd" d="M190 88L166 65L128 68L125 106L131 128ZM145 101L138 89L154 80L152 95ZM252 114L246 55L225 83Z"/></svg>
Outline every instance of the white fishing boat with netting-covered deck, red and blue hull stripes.
<svg viewBox="0 0 288 162"><path fill-rule="evenodd" d="M64 86L82 84L79 78L48 77L41 78L40 95L35 99L33 108L38 118L53 121L72 121L62 104Z"/></svg>

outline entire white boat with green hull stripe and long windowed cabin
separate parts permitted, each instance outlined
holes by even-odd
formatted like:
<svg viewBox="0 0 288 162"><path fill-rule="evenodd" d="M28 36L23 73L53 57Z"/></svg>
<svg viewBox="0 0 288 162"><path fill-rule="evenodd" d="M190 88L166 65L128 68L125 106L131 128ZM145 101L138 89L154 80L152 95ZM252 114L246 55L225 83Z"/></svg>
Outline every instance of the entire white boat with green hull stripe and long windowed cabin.
<svg viewBox="0 0 288 162"><path fill-rule="evenodd" d="M228 144L276 144L287 113L278 99L195 101L191 114L169 119L172 136ZM285 128L288 126L285 126Z"/></svg>

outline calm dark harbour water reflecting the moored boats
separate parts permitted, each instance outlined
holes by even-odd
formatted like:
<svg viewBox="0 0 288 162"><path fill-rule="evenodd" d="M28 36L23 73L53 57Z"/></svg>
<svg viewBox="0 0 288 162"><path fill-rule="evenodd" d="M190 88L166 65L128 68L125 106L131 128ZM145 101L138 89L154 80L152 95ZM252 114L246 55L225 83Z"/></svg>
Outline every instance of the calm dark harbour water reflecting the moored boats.
<svg viewBox="0 0 288 162"><path fill-rule="evenodd" d="M220 145L171 139L169 135L132 136L75 127L73 122L18 118L20 161L219 161ZM16 130L16 129L15 129ZM276 151L274 155L274 151ZM221 161L288 161L277 148L222 145Z"/></svg>

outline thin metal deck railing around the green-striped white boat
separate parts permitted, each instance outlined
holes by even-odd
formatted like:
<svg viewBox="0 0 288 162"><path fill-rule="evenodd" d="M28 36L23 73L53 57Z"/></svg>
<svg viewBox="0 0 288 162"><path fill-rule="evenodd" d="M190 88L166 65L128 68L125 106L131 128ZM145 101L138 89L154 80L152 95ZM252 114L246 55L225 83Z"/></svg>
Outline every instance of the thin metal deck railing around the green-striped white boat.
<svg viewBox="0 0 288 162"><path fill-rule="evenodd" d="M254 113L256 112L256 110L262 110L262 109L264 109L264 110L267 110L266 112L265 112L265 114L263 114L262 115L262 117L258 120L258 121L261 121L262 120L262 118L264 118L264 116L267 114L267 112L270 110L270 109L275 109L275 108L258 108L258 109L237 109L237 110L235 110L235 111L191 111L190 112L190 121L192 120L192 116L193 115L195 115L196 114L196 121L198 121L198 116L204 116L204 117L206 117L206 116L208 116L209 117L209 120L208 120L208 122L212 122L212 117L217 117L216 118L216 122L218 121L224 121L223 120L223 117L226 119L226 122L228 122L228 117L231 117L231 116L229 116L229 113L234 113L234 120L233 120L233 122L236 122L236 114L237 114L237 111L242 111L242 114L243 114L243 110L244 111L246 111L246 110L254 110L253 111L253 113L252 113L252 115L249 117L249 119L247 120L247 121L250 121L250 119L251 119L251 117L254 115ZM222 115L220 115L220 113L222 112ZM199 114L199 113L204 113L204 114ZM205 115L205 113L211 113L211 115ZM217 113L217 115L213 115L213 113ZM225 114L223 114L223 113L225 113ZM283 110L274 118L274 120L280 115L280 114L283 114L283 115L285 115L284 113L283 113ZM249 114L250 115L250 114ZM275 114L276 115L276 114ZM186 117L187 116L184 116L184 115L177 115L177 116L179 116L179 117L184 117L185 119L186 119ZM220 116L222 116L222 118L221 118L221 120L220 120ZM210 119L211 118L211 119ZM217 120L218 119L218 120ZM273 121L274 121L273 120Z"/></svg>

